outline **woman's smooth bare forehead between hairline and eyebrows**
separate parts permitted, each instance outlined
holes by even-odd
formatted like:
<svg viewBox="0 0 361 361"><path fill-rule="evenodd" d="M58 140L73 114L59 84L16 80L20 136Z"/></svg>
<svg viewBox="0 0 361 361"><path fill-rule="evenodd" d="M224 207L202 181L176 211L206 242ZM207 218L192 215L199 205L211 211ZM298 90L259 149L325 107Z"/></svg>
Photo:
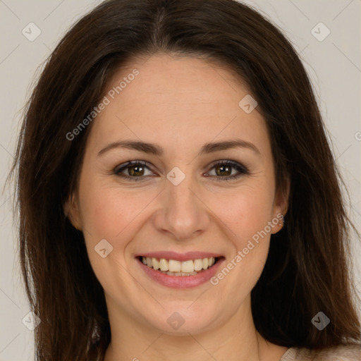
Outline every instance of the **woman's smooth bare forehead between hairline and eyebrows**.
<svg viewBox="0 0 361 361"><path fill-rule="evenodd" d="M109 104L94 121L93 144L138 138L184 149L235 135L267 142L257 108L247 114L239 106L247 85L219 63L169 54L134 59L104 94Z"/></svg>

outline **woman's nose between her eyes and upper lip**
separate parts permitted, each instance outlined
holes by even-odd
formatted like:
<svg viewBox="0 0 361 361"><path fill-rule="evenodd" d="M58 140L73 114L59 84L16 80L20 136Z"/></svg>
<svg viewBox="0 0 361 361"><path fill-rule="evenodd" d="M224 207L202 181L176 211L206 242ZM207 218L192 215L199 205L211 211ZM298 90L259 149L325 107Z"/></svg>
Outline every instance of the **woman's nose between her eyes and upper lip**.
<svg viewBox="0 0 361 361"><path fill-rule="evenodd" d="M166 179L159 195L159 209L154 214L154 226L176 240L189 240L204 233L210 224L209 209L202 200L202 190L194 177L186 175L176 185Z"/></svg>

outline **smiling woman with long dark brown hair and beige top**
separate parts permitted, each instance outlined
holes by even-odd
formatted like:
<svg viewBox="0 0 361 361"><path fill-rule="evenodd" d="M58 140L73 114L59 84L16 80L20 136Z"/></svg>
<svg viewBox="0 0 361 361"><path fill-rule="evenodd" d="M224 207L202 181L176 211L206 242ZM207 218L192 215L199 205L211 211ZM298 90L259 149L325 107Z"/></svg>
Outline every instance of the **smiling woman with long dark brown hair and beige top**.
<svg viewBox="0 0 361 361"><path fill-rule="evenodd" d="M361 360L324 124L251 8L104 1L51 54L16 165L38 360Z"/></svg>

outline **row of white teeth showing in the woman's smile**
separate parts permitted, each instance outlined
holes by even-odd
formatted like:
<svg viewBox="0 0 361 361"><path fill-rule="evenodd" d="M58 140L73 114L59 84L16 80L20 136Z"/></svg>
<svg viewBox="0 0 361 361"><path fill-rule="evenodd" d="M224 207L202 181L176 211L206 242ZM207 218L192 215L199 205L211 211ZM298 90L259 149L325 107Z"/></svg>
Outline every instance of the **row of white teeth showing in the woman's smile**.
<svg viewBox="0 0 361 361"><path fill-rule="evenodd" d="M170 276L192 276L202 269L212 267L216 262L214 257L189 259L188 261L176 261L175 259L157 259L150 257L142 257L142 263L147 264L148 267L159 269L164 274Z"/></svg>

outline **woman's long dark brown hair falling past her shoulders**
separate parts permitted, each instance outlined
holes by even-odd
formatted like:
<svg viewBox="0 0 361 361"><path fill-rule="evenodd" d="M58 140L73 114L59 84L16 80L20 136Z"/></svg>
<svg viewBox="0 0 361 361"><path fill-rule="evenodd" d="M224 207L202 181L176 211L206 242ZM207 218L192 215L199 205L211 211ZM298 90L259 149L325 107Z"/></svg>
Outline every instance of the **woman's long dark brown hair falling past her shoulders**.
<svg viewBox="0 0 361 361"><path fill-rule="evenodd" d="M111 332L82 232L63 213L91 125L66 135L134 56L159 51L221 61L249 86L267 122L276 186L290 177L286 225L271 236L252 290L255 326L278 345L325 348L360 339L348 267L351 224L341 176L305 68L281 32L233 0L109 0L61 39L27 104L16 160L20 262L39 361L102 360ZM319 331L319 311L331 320Z"/></svg>

